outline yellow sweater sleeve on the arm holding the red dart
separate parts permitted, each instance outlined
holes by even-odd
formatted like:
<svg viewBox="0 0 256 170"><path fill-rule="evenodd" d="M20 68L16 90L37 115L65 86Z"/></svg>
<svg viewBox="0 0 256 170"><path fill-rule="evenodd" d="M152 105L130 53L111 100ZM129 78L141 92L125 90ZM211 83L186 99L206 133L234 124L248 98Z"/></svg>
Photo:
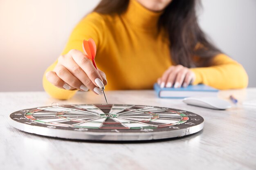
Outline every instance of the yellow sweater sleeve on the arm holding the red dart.
<svg viewBox="0 0 256 170"><path fill-rule="evenodd" d="M102 27L103 19L101 15L95 12L87 15L72 31L61 55L67 54L71 49L83 51L83 40L88 40L89 38L92 38L95 41L96 46L99 47L101 45L101 40L103 40ZM56 64L57 61L49 66L45 73L52 71ZM45 73L43 75L43 88L51 97L56 99L69 99L74 96L77 90L65 90L54 86L46 79Z"/></svg>

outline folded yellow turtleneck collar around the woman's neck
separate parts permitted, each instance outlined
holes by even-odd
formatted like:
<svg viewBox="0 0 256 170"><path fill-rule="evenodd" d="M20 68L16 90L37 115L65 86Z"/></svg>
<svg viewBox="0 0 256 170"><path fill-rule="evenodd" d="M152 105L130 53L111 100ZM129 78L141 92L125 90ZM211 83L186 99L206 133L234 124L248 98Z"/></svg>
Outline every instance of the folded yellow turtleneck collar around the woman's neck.
<svg viewBox="0 0 256 170"><path fill-rule="evenodd" d="M137 0L130 0L124 18L134 27L148 30L157 29L159 16L163 12L154 12L143 7Z"/></svg>

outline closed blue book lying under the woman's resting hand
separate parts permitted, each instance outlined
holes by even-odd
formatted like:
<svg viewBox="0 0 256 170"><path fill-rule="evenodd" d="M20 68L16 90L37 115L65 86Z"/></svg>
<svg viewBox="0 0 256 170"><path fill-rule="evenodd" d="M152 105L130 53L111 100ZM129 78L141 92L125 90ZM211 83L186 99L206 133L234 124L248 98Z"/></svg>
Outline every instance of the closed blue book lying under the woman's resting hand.
<svg viewBox="0 0 256 170"><path fill-rule="evenodd" d="M177 98L182 99L185 97L217 97L218 90L216 88L198 84L198 85L189 85L186 88L160 88L160 86L154 84L155 92L158 97L161 98Z"/></svg>

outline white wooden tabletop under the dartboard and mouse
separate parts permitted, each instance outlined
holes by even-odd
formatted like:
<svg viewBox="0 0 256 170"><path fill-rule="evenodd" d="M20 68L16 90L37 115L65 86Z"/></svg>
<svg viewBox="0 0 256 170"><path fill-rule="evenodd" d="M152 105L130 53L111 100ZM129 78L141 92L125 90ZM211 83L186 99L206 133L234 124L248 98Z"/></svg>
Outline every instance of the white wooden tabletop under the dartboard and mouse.
<svg viewBox="0 0 256 170"><path fill-rule="evenodd" d="M178 99L159 99L154 91L106 91L111 104L141 104L188 110L204 117L194 135L146 143L97 143L32 135L9 125L14 111L58 104L105 103L103 96L79 92L68 101L45 92L0 93L0 170L255 170L256 88L221 91L239 103L226 111L188 106Z"/></svg>

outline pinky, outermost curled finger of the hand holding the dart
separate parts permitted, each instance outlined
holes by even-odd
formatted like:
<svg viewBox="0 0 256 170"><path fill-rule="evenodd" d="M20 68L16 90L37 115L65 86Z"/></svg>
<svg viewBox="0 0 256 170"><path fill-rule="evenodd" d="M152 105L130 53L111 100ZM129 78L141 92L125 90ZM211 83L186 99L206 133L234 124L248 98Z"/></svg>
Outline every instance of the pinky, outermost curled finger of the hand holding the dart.
<svg viewBox="0 0 256 170"><path fill-rule="evenodd" d="M45 74L45 77L50 83L58 88L65 88L67 90L71 89L71 87L66 84L60 77L58 77L54 71L48 71Z"/></svg>

